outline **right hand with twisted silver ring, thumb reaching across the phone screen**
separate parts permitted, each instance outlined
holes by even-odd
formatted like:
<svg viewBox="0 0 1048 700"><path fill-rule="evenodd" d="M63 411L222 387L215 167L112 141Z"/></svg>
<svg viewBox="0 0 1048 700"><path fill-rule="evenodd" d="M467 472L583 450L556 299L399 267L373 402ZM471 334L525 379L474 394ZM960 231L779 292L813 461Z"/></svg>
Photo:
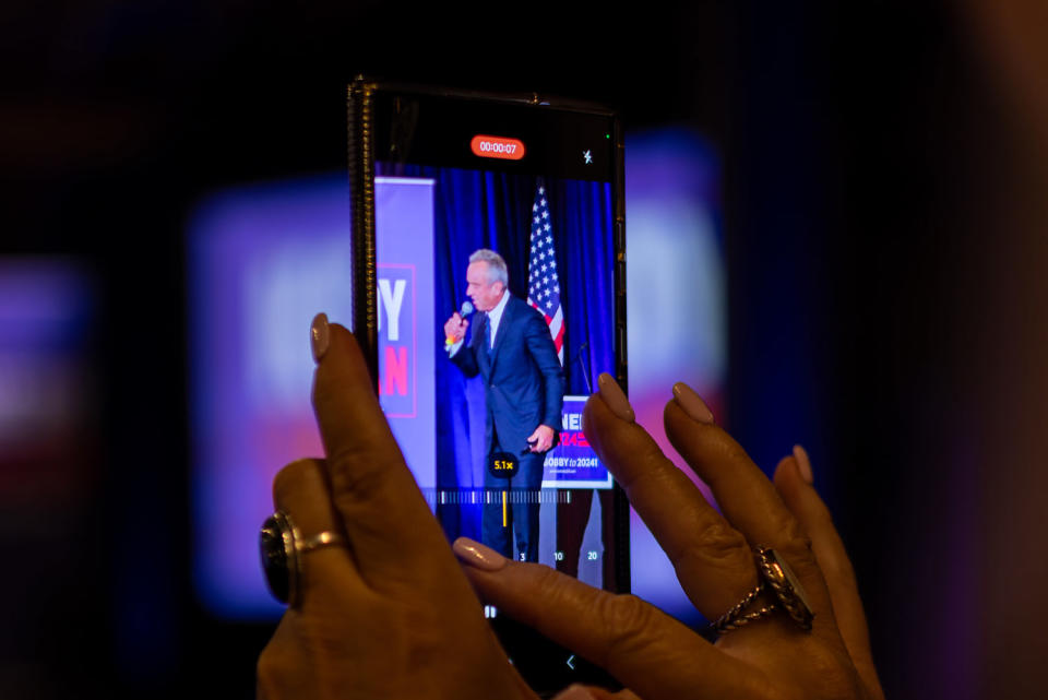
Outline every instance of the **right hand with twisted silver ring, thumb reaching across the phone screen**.
<svg viewBox="0 0 1048 700"><path fill-rule="evenodd" d="M773 486L714 424L698 394L677 384L666 405L666 432L710 485L722 514L633 422L611 377L603 375L583 415L586 437L669 555L699 612L717 619L741 601L759 582L753 548L771 547L806 590L812 629L776 612L711 644L640 598L460 539L455 553L481 597L645 700L883 698L851 565L811 486L803 450L779 462Z"/></svg>

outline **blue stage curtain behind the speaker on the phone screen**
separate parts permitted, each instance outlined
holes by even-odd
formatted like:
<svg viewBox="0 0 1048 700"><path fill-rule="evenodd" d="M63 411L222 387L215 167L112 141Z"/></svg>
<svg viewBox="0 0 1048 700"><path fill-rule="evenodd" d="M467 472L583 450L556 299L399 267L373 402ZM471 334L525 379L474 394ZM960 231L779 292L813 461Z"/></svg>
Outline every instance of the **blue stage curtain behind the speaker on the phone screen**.
<svg viewBox="0 0 1048 700"><path fill-rule="evenodd" d="M498 251L510 293L527 298L535 176L427 166L379 166L380 175L425 177L434 187L436 318L441 324L466 299L466 266L478 248ZM587 381L615 370L611 187L607 182L545 180L561 275L568 393L590 393ZM438 333L443 339L443 332ZM582 351L580 352L580 348ZM484 385L466 379L437 353L437 484L441 489L484 485ZM480 507L438 505L449 539L480 538Z"/></svg>

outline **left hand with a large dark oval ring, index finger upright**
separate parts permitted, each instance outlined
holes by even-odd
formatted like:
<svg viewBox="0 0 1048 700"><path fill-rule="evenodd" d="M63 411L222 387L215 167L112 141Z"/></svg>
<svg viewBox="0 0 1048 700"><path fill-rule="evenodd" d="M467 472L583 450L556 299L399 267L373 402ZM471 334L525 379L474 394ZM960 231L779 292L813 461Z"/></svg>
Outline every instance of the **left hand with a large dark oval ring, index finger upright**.
<svg viewBox="0 0 1048 700"><path fill-rule="evenodd" d="M404 464L352 334L313 321L313 406L326 460L285 466L277 510L303 537L300 604L258 665L261 698L535 698Z"/></svg>

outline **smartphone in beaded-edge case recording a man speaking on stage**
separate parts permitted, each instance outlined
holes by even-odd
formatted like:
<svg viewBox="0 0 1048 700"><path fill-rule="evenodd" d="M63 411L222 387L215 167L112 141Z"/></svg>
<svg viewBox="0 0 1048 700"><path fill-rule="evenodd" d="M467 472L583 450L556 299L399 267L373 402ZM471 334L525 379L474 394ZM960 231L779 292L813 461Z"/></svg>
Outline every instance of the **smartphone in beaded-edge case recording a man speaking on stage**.
<svg viewBox="0 0 1048 700"><path fill-rule="evenodd" d="M449 542L614 592L629 506L582 432L627 388L622 131L604 107L356 79L353 330ZM488 606L539 693L603 672Z"/></svg>

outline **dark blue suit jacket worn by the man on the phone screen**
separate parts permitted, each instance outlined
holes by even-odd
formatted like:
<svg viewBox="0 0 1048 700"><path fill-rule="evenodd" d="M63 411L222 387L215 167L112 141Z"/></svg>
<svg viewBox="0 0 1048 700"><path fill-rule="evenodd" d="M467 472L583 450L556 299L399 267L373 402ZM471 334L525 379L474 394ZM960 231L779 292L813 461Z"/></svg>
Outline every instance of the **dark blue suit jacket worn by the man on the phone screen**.
<svg viewBox="0 0 1048 700"><path fill-rule="evenodd" d="M467 377L484 378L487 452L498 438L504 451L520 455L539 425L549 426L555 435L559 432L563 370L546 319L527 302L510 296L490 349L485 342L488 322L486 313L478 318L469 344L458 348L451 361Z"/></svg>

